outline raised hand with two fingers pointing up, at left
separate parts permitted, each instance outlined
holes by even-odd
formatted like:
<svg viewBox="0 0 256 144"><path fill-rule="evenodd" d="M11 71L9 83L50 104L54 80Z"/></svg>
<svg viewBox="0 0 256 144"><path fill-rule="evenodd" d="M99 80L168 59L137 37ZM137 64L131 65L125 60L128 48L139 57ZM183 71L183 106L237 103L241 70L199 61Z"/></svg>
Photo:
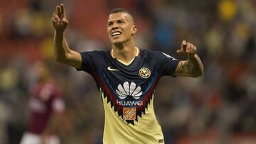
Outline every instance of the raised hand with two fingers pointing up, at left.
<svg viewBox="0 0 256 144"><path fill-rule="evenodd" d="M60 4L56 6L56 11L53 13L53 18L51 18L53 22L53 27L55 31L63 32L68 27L68 19L65 15L64 5Z"/></svg>

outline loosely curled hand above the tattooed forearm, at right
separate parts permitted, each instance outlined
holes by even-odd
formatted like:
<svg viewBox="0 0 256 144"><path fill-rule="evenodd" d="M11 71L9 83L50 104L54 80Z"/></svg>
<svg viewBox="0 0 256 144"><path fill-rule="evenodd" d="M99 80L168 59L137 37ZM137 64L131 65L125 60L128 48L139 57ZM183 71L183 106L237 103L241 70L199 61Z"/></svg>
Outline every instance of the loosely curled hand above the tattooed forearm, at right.
<svg viewBox="0 0 256 144"><path fill-rule="evenodd" d="M196 54L196 46L183 40L181 49L177 50L177 53L183 57L193 58Z"/></svg>

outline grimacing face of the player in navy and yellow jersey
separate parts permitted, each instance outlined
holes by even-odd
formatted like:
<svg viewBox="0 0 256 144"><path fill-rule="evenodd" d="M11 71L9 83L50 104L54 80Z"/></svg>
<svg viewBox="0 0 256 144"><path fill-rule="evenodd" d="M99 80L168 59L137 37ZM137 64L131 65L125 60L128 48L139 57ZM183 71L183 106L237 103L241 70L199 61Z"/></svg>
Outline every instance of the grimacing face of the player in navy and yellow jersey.
<svg viewBox="0 0 256 144"><path fill-rule="evenodd" d="M110 14L107 21L107 33L113 44L125 43L132 39L137 27L129 13L119 12Z"/></svg>

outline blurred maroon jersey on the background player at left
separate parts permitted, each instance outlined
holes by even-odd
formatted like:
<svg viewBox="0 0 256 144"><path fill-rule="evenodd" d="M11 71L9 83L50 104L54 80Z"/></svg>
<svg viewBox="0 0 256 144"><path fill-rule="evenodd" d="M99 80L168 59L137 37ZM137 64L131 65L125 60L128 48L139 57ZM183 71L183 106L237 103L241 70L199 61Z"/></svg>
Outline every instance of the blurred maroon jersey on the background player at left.
<svg viewBox="0 0 256 144"><path fill-rule="evenodd" d="M53 83L34 84L30 94L28 131L40 134L46 128L50 115L61 113L65 109L65 104Z"/></svg>

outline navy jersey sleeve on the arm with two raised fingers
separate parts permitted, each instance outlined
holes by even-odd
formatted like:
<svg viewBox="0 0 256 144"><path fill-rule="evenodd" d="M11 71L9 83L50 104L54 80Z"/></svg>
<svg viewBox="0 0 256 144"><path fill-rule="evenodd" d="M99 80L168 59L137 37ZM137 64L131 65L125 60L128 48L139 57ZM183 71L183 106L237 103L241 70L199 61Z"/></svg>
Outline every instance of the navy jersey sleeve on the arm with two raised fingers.
<svg viewBox="0 0 256 144"><path fill-rule="evenodd" d="M102 52L93 50L93 51L86 51L80 52L82 57L82 65L81 69L77 69L78 71L83 70L88 72L89 74L93 74L97 71L97 66L100 65L100 60L102 57Z"/></svg>

